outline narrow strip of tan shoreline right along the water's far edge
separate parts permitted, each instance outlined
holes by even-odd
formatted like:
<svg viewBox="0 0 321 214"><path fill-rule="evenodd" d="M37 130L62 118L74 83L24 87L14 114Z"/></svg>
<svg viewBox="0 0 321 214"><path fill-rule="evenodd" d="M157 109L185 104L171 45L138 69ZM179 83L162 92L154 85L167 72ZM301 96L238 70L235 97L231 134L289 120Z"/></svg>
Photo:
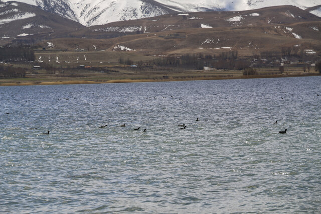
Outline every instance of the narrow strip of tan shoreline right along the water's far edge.
<svg viewBox="0 0 321 214"><path fill-rule="evenodd" d="M260 78L286 78L286 77L312 77L321 76L319 73L294 74L294 75L251 75L232 77L203 77L186 79L118 79L118 80L61 80L61 81L17 81L4 82L0 86L36 86L36 85L82 85L82 84L109 84L109 83L143 83L143 82L179 82L179 81L202 81L202 80L233 80L233 79L260 79ZM28 78L26 78L27 80ZM14 79L9 79L13 81Z"/></svg>

